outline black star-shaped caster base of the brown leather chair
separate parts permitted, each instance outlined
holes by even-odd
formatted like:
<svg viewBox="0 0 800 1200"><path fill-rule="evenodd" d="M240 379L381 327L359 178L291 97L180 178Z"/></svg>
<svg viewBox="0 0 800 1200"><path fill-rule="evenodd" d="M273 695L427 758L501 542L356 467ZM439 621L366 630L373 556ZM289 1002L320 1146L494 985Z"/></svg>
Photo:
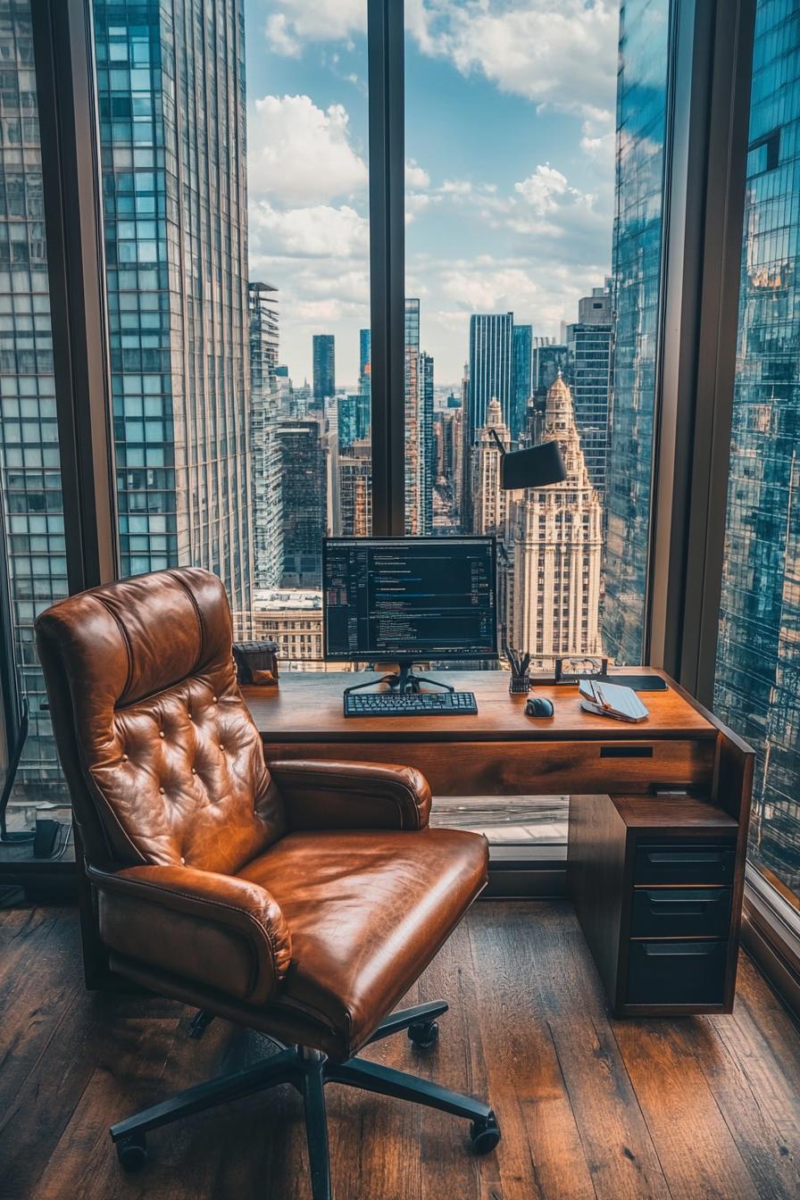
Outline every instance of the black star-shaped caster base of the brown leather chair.
<svg viewBox="0 0 800 1200"><path fill-rule="evenodd" d="M408 1030L410 1039L416 1045L423 1048L433 1045L438 1030L435 1018L446 1010L447 1004L444 1001L407 1008L389 1016L369 1040L378 1042L391 1033ZM279 1052L253 1067L190 1087L162 1104L154 1104L152 1108L137 1112L127 1121L119 1121L112 1126L112 1139L122 1166L126 1170L142 1166L146 1157L145 1136L150 1129L158 1129L180 1117L203 1112L242 1096L277 1087L279 1084L291 1084L303 1098L313 1200L332 1200L325 1084L361 1087L367 1092L414 1100L416 1104L426 1104L443 1112L452 1112L453 1116L468 1117L471 1121L473 1148L477 1154L487 1154L500 1140L500 1127L492 1109L468 1096L459 1096L458 1092L439 1087L438 1084L431 1084L426 1079L417 1079L415 1075L407 1075L405 1072L381 1067L365 1058L332 1063L319 1050L276 1044L279 1046Z"/></svg>

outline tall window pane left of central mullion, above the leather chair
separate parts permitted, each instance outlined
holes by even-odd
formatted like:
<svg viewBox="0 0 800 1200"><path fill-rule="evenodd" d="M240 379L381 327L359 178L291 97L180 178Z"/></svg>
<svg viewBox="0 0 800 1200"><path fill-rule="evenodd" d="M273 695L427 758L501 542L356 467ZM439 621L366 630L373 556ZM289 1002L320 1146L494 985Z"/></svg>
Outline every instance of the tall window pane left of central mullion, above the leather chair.
<svg viewBox="0 0 800 1200"><path fill-rule="evenodd" d="M94 11L122 571L213 570L320 670L321 538L372 524L366 0Z"/></svg>

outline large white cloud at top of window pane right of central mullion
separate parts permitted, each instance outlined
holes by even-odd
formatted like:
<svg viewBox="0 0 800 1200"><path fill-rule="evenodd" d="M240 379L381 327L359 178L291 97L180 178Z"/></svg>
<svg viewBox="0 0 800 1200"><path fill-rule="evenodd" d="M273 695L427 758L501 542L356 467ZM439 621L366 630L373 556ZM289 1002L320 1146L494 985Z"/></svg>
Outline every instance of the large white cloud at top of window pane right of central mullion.
<svg viewBox="0 0 800 1200"><path fill-rule="evenodd" d="M616 91L614 0L407 0L420 50L504 91L607 125Z"/></svg>

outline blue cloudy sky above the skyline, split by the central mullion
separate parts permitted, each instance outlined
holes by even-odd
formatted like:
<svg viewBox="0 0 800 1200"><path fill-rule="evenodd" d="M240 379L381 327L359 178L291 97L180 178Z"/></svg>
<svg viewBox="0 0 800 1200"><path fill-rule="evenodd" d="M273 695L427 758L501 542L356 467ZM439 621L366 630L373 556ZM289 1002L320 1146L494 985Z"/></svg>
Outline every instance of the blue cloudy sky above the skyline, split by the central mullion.
<svg viewBox="0 0 800 1200"><path fill-rule="evenodd" d="M281 359L338 385L369 324L366 0L245 0L251 277L279 288ZM407 294L435 382L471 312L558 335L610 269L619 2L407 0Z"/></svg>

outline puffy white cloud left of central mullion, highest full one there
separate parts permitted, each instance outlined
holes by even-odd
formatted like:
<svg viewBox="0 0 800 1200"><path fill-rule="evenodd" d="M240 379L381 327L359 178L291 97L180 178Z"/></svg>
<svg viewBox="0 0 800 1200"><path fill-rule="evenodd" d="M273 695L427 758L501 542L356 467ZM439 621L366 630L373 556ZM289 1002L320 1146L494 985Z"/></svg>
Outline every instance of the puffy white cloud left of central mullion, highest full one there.
<svg viewBox="0 0 800 1200"><path fill-rule="evenodd" d="M309 96L265 96L248 114L248 186L283 204L366 194L367 167L353 149L343 104L327 112Z"/></svg>

